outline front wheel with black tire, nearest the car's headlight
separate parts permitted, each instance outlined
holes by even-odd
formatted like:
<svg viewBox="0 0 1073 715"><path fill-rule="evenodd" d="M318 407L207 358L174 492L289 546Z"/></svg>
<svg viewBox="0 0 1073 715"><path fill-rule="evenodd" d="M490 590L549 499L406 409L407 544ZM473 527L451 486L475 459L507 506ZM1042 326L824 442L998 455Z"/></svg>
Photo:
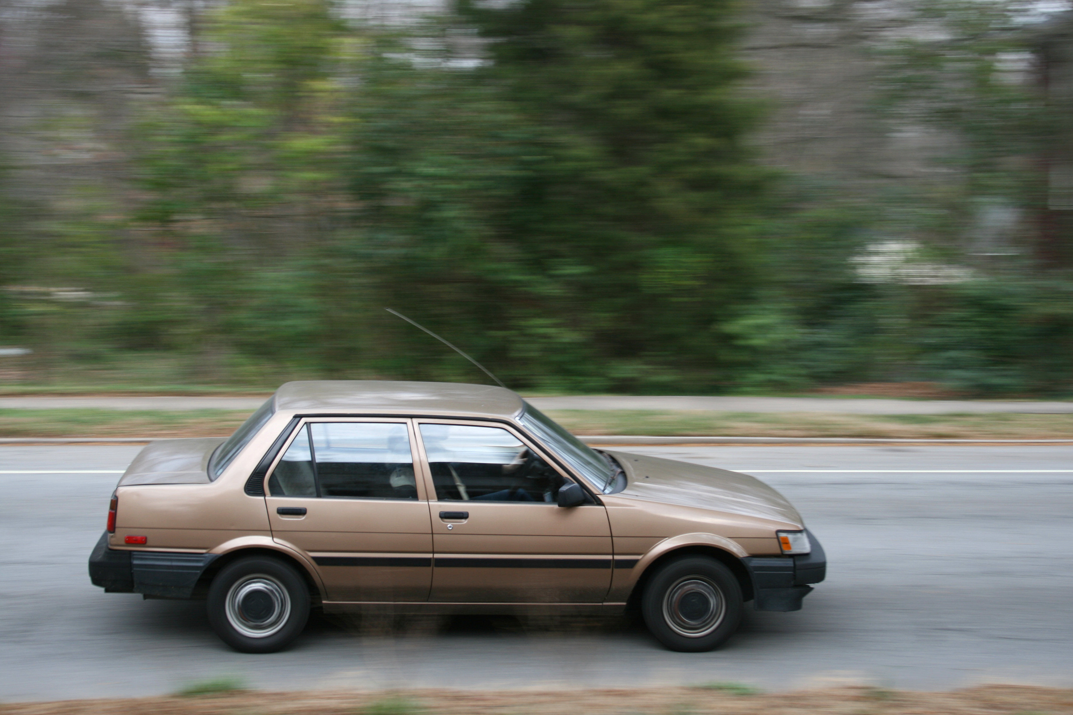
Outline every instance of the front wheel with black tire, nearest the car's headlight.
<svg viewBox="0 0 1073 715"><path fill-rule="evenodd" d="M672 651L700 653L722 645L741 622L741 586L708 556L682 556L659 566L641 597L641 614Z"/></svg>

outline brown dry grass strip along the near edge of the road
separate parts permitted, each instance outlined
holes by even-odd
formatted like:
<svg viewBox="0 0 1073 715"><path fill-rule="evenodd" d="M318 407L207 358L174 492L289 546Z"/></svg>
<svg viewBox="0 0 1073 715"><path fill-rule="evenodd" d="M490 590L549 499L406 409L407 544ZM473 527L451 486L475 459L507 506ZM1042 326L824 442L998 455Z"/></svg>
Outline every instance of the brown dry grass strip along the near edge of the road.
<svg viewBox="0 0 1073 715"><path fill-rule="evenodd" d="M733 687L732 687L733 689ZM0 715L1060 715L1073 689L986 685L949 692L840 687L735 695L720 686L570 690L265 692L0 704Z"/></svg>

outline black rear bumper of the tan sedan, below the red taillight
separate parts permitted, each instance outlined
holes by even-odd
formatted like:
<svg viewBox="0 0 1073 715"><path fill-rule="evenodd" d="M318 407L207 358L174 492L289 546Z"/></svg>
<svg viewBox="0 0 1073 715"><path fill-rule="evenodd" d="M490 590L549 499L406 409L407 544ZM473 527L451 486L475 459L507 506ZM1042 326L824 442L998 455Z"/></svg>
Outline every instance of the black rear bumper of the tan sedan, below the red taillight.
<svg viewBox="0 0 1073 715"><path fill-rule="evenodd" d="M89 580L105 593L135 593L157 598L191 598L210 553L118 551L108 548L105 532L89 556Z"/></svg>

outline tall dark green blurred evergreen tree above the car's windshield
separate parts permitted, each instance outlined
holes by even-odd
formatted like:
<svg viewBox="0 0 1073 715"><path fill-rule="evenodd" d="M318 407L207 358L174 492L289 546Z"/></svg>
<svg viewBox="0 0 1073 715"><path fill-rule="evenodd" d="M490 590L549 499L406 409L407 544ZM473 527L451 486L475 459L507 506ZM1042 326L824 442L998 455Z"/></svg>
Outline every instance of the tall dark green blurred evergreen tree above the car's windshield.
<svg viewBox="0 0 1073 715"><path fill-rule="evenodd" d="M724 326L763 282L752 229L766 178L746 143L761 108L737 91L736 10L726 0L460 4L490 41L483 74L542 130L547 159L504 222L533 267L558 275L560 297L527 317L588 333L587 363L608 387L734 378Z"/></svg>

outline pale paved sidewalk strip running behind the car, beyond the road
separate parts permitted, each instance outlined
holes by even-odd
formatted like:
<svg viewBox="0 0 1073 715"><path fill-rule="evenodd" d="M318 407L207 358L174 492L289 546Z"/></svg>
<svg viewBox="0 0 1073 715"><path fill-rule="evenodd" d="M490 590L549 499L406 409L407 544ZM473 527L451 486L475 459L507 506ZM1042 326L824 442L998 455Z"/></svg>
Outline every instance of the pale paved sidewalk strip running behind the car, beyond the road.
<svg viewBox="0 0 1073 715"><path fill-rule="evenodd" d="M712 412L818 412L844 415L951 413L1069 414L1073 402L1017 400L869 400L764 397L563 396L529 398L541 409L700 409ZM233 397L5 397L0 409L256 409L264 398Z"/></svg>

